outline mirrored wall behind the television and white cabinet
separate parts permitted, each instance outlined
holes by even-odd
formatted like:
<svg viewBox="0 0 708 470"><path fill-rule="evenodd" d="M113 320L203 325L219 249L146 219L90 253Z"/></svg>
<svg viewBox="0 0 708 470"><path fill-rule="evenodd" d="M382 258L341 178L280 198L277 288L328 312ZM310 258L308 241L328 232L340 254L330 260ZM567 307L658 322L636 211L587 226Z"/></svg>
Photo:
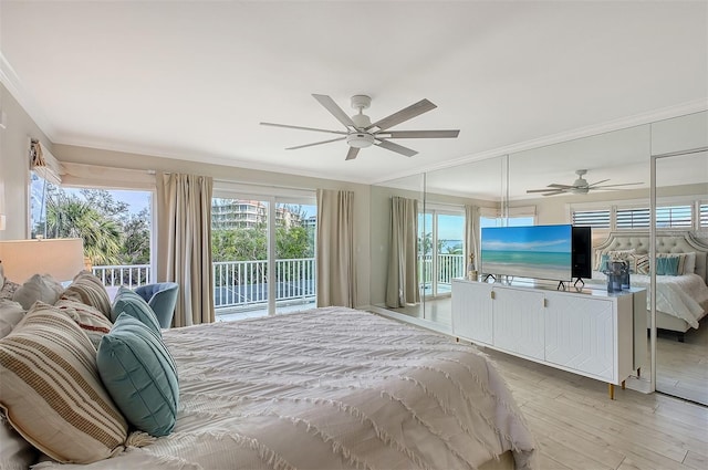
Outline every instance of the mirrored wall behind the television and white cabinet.
<svg viewBox="0 0 708 470"><path fill-rule="evenodd" d="M706 146L707 140L707 113L702 112L376 185L372 190L372 304L424 322L426 326L449 331L450 280L467 274L469 254L475 252L466 232L466 220L470 213L475 218L477 247L482 227L590 223L593 226L593 246L601 246L613 238L622 241L623 237L634 233L644 237L639 251L648 253L652 236L652 155L699 148ZM677 155L657 164L657 213L663 210L667 215L662 217L669 219L668 222L657 220L657 232L668 236L670 231L677 237L691 237L708 243L706 159L704 152L691 156ZM591 189L573 189L579 179L587 181ZM391 264L391 260L403 257L400 246L392 250L392 227L395 226L392 222L393 198L418 201L418 296L414 297L415 302L406 301L412 297L403 294L400 285L394 284L392 289L392 272L397 271L393 279L398 280L406 272ZM686 205L689 206L690 220L681 221L680 211L685 210L681 207ZM677 209L670 209L674 206ZM392 258L392 251L398 255ZM475 268L479 270L478 260L475 261ZM637 289L650 290L652 275L648 271L635 275L633 284ZM584 280L582 289L606 288L602 273L593 278L596 279ZM702 288L708 289L705 275L702 283ZM708 297L702 299L700 292L695 294L696 303L705 312ZM396 302L396 299L399 301ZM649 306L650 301L647 304ZM650 324L650 311L647 312L647 323ZM697 377L691 386L702 386L704 390L708 390L708 343L702 334L694 338L695 333L708 331L708 322L705 317L702 322L697 322L698 326L702 324L702 328L691 327L684 332L683 343L677 335L670 336L670 330L659 330L656 341L671 341L669 349L676 349L675 357L683 356L678 349L687 344L702 345L699 357L695 359L699 366L690 373L691 377ZM677 391L680 387L675 385L681 380L671 377L668 372L669 368L677 370L675 362L669 358L671 354L664 353L668 368L659 367L662 353L657 353L653 363L650 342L648 344L643 374L637 379L638 388L650 389L656 379L659 390L668 388L663 385L671 384L666 391L680 396L680 391ZM653 376L649 372L654 369L656 373ZM663 375L666 379L662 379Z"/></svg>

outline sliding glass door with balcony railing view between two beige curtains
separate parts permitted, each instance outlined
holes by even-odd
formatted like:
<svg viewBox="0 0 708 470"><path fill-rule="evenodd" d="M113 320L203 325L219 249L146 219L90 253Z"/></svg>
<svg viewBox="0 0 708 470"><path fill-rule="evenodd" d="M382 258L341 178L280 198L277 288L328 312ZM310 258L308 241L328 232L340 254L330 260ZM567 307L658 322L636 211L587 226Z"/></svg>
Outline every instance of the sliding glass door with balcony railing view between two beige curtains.
<svg viewBox="0 0 708 470"><path fill-rule="evenodd" d="M214 198L211 240L218 320L314 306L314 196Z"/></svg>

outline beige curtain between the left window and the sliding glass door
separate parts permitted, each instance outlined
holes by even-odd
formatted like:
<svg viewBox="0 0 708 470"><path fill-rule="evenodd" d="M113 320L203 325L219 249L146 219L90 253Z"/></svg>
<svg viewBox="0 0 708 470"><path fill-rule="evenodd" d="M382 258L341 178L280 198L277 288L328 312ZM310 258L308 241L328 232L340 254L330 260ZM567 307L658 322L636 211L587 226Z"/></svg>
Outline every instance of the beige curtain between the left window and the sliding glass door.
<svg viewBox="0 0 708 470"><path fill-rule="evenodd" d="M174 326L211 323L211 190L206 176L158 175L158 281L179 284Z"/></svg>

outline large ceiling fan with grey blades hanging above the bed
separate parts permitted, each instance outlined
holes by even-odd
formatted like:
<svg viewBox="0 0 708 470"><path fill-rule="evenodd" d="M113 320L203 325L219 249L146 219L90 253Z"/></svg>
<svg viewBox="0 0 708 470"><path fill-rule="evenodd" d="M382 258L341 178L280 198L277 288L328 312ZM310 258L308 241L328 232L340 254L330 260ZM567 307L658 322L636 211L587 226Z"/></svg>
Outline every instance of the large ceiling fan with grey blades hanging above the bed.
<svg viewBox="0 0 708 470"><path fill-rule="evenodd" d="M294 150L298 148L312 147L314 145L329 144L336 140L346 140L350 146L350 150L346 154L347 160L353 160L358 155L358 150L362 148L376 145L387 150L395 152L406 157L413 157L417 154L416 150L404 147L403 145L391 142L392 138L455 138L459 135L457 130L387 130L397 124L404 123L423 113L427 113L430 109L435 109L437 106L430 103L428 100L420 100L418 103L376 121L372 124L372 119L363 113L372 104L372 98L366 95L352 96L352 107L357 109L358 113L348 116L335 102L327 95L312 95L320 102L326 111L329 111L336 119L344 124L346 130L330 130L320 129L315 127L302 127L291 126L288 124L274 124L274 123L261 123L263 126L287 127L290 129L301 130L315 130L321 133L340 134L342 137L332 138L329 140L315 142L313 144L299 145L296 147L289 147L287 150Z"/></svg>

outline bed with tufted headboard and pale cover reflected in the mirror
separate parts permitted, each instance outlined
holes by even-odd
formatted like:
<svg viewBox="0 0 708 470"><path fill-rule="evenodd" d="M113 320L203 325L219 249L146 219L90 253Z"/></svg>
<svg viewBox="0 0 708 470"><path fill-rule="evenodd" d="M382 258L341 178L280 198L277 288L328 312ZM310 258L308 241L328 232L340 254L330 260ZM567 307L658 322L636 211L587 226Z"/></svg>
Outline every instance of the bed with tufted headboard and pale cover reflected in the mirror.
<svg viewBox="0 0 708 470"><path fill-rule="evenodd" d="M608 238L595 247L595 268L602 254L611 252L633 253L634 257L646 255L649 250L648 232L612 232ZM656 237L657 253L695 253L695 267L693 272L684 272L680 275L657 275L656 324L660 330L678 333L679 341L683 334L690 328L698 328L700 320L708 311L708 241L700 239L694 232L662 233ZM693 259L693 254L691 254ZM632 264L632 263L631 263ZM650 324L650 276L633 273L632 285L647 289L647 324ZM591 284L606 284L606 276L598 271L593 271L592 280L585 280Z"/></svg>

